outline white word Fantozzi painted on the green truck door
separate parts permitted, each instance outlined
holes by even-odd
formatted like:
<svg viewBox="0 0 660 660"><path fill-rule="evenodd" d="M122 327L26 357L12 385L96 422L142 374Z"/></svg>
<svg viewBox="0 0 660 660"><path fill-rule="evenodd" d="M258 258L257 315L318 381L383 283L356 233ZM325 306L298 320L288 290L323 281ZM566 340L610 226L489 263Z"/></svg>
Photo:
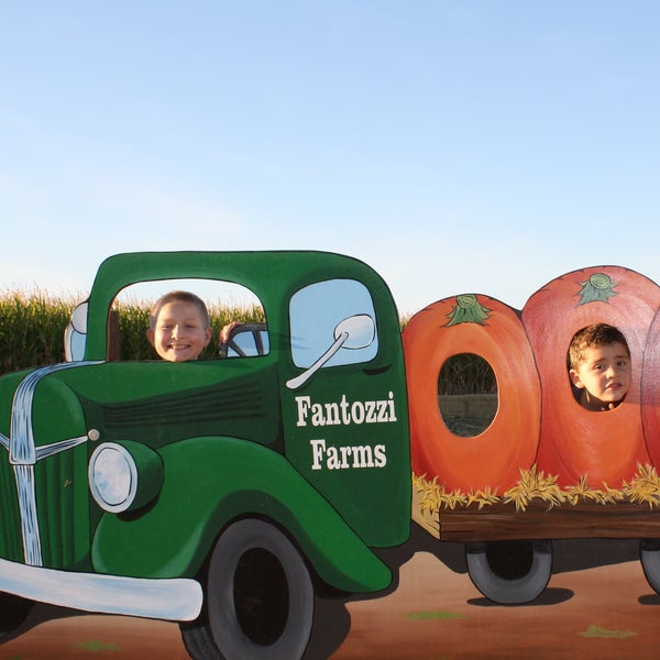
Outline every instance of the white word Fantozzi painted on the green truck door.
<svg viewBox="0 0 660 660"><path fill-rule="evenodd" d="M298 405L297 426L299 427L307 426L308 421L312 427L396 421L392 392L387 399L380 402L349 403L346 395L343 394L340 402L327 404L312 403L310 396L297 396L296 404Z"/></svg>

